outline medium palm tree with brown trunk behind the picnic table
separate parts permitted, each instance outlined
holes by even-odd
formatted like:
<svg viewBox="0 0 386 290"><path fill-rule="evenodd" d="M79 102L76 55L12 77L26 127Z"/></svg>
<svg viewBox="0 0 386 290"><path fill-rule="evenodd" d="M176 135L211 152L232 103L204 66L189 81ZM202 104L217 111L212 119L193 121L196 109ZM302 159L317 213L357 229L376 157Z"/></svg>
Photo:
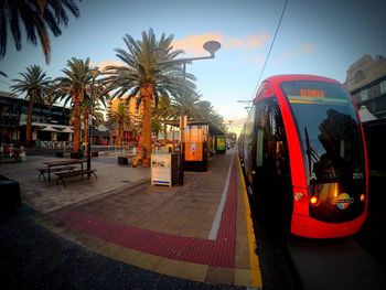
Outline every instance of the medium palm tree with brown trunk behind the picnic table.
<svg viewBox="0 0 386 290"><path fill-rule="evenodd" d="M62 69L65 76L57 77L55 82L58 84L58 96L61 100L65 100L64 106L71 101L73 104L73 152L76 153L81 147L81 114L86 88L93 80L89 66L89 58L86 61L75 58L67 61L67 68Z"/></svg>

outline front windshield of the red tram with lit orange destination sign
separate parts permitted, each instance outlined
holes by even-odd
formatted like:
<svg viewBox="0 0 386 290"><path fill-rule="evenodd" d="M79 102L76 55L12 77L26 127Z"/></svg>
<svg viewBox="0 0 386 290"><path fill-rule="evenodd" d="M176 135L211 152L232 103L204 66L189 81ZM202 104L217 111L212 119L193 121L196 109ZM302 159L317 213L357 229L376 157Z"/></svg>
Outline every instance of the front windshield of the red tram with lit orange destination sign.
<svg viewBox="0 0 386 290"><path fill-rule="evenodd" d="M361 131L350 95L335 84L281 84L301 139L309 184L364 179Z"/></svg>

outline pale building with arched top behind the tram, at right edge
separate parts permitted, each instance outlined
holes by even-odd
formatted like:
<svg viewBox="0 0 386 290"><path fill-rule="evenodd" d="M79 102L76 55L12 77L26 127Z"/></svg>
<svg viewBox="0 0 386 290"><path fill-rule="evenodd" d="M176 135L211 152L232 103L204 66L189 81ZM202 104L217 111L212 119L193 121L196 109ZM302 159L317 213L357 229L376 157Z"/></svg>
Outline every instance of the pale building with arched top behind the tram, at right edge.
<svg viewBox="0 0 386 290"><path fill-rule="evenodd" d="M377 118L386 117L386 58L362 56L346 73L344 86L353 95L358 109L365 106Z"/></svg>

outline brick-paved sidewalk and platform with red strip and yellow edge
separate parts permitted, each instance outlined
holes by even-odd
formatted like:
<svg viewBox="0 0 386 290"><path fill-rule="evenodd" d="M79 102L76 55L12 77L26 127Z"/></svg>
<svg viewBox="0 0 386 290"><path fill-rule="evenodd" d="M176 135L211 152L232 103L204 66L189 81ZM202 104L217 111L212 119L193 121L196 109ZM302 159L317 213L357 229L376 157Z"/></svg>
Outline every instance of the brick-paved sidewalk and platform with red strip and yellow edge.
<svg viewBox="0 0 386 290"><path fill-rule="evenodd" d="M236 155L235 155L236 157ZM93 158L98 180L67 186L37 180L55 158L0 164L21 183L36 221L95 253L152 272L210 284L261 287L239 167L233 154L211 158L208 172L185 172L185 185L150 185L150 169ZM249 225L249 226L248 226Z"/></svg>

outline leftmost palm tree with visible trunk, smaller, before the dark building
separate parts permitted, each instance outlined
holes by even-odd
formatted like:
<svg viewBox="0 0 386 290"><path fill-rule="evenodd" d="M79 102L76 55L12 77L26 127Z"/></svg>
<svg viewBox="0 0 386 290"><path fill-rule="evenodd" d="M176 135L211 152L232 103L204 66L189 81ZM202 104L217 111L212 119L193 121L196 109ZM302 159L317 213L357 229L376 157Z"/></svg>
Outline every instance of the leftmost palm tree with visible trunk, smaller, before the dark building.
<svg viewBox="0 0 386 290"><path fill-rule="evenodd" d="M20 73L20 75L21 79L12 79L17 84L11 86L11 89L15 93L26 93L25 99L29 100L29 107L25 122L25 144L29 147L31 146L33 107L35 103L45 103L51 78L39 65L26 67L26 73Z"/></svg>

